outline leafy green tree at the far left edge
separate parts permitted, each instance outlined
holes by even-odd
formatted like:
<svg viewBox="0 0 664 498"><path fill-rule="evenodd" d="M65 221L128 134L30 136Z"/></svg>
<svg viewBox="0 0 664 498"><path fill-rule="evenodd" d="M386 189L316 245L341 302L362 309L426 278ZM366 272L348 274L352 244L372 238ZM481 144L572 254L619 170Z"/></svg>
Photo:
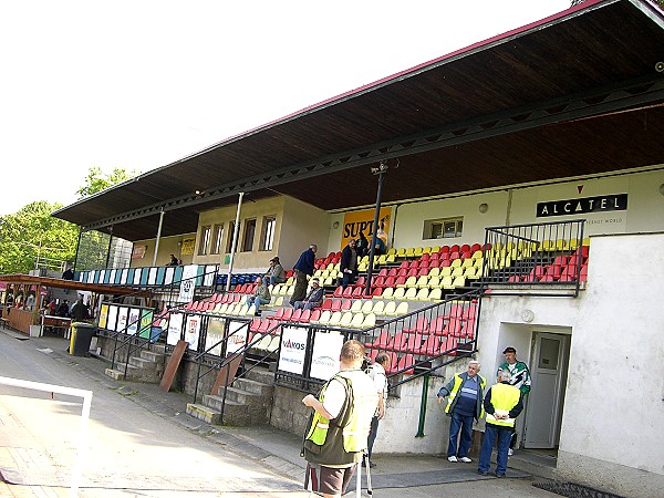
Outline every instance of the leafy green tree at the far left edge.
<svg viewBox="0 0 664 498"><path fill-rule="evenodd" d="M0 217L0 274L27 273L35 266L59 268L74 259L77 227L51 217L61 207L38 200Z"/></svg>

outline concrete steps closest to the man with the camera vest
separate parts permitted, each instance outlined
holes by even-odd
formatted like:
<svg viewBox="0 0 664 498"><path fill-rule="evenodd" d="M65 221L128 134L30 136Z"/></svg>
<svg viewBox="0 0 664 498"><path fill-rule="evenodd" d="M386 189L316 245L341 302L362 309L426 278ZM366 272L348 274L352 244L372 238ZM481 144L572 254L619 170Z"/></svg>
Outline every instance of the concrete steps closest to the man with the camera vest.
<svg viewBox="0 0 664 498"><path fill-rule="evenodd" d="M247 377L236 378L232 386L226 391L224 404L224 388L218 395L205 394L201 403L188 403L187 414L209 424L249 426L267 424L270 419L270 408L274 374L255 369L248 372ZM224 407L224 421L221 408Z"/></svg>

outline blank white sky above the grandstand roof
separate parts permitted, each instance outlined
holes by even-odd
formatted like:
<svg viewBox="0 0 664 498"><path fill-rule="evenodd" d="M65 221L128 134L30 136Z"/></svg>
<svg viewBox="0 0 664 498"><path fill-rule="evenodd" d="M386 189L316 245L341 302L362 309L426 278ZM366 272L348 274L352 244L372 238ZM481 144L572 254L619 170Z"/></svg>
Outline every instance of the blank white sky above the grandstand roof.
<svg viewBox="0 0 664 498"><path fill-rule="evenodd" d="M569 0L0 3L0 216L69 205Z"/></svg>

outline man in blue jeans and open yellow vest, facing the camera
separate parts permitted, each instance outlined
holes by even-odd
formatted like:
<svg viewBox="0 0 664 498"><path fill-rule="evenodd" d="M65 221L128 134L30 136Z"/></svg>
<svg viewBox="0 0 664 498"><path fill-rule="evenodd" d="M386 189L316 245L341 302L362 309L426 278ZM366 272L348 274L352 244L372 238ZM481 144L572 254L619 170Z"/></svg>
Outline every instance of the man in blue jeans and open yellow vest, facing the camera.
<svg viewBox="0 0 664 498"><path fill-rule="evenodd" d="M470 360L468 371L457 373L438 391L438 403L447 397L445 413L452 417L449 422L449 444L447 445L447 459L449 461L473 461L468 458L468 450L473 443L473 421L484 416L484 390L487 385L486 378L478 374L479 362ZM457 439L461 432L460 442Z"/></svg>

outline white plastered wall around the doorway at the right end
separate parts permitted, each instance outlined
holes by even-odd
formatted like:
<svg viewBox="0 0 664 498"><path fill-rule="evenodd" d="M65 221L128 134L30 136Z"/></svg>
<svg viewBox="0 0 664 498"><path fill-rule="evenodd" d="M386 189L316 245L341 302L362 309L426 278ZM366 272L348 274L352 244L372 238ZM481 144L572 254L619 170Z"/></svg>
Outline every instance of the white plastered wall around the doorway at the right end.
<svg viewBox="0 0 664 498"><path fill-rule="evenodd" d="M530 364L532 331L571 331L557 469L566 479L626 496L664 487L663 247L661 232L592 237L579 298L483 300L478 346L487 375L508 344Z"/></svg>

